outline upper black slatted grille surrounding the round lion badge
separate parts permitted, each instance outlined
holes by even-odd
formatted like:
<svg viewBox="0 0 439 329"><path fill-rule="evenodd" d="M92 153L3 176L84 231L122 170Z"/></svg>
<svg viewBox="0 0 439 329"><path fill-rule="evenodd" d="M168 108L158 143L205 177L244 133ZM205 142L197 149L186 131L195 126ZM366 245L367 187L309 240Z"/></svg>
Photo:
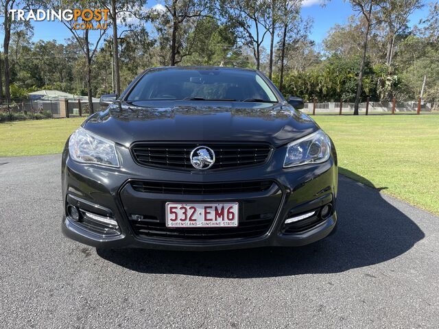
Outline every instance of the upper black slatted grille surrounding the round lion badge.
<svg viewBox="0 0 439 329"><path fill-rule="evenodd" d="M215 152L215 163L210 170L263 164L272 151L265 143L134 143L131 152L134 160L143 166L195 170L190 155L201 145Z"/></svg>

